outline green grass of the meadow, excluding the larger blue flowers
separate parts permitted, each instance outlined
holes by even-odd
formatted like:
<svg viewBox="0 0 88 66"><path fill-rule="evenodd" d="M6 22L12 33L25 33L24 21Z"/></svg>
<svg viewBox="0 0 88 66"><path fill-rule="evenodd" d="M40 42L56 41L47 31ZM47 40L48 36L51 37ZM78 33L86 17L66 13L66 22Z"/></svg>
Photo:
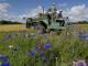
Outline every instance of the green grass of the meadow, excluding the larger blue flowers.
<svg viewBox="0 0 88 66"><path fill-rule="evenodd" d="M72 29L74 29L72 31ZM78 31L76 30L78 29ZM85 30L84 30L85 29ZM26 66L66 66L68 63L70 63L73 66L73 62L75 59L86 59L86 56L88 54L88 42L86 43L86 40L82 40L78 36L79 33L79 28L69 28L67 33L75 32L76 37L73 36L72 34L66 35L66 33L56 35L56 34L44 34L46 37L40 36L37 33L34 33L34 31L25 31L25 33L19 33L19 31L12 31L12 32L0 32L0 54L2 56L8 55L9 57L6 61L1 61L0 63L4 62L10 62L11 64L16 65L16 66L23 66L26 64ZM84 34L88 34L87 28L81 28L81 31L86 31ZM6 40L6 33L11 33L11 37L9 40ZM14 38L14 33L18 34L18 38ZM37 40L34 38L33 35L28 37L26 40L23 38L23 35L34 33ZM84 35L82 34L82 35ZM67 37L66 37L67 36ZM2 40L6 40L2 42ZM79 44L81 40L82 44ZM4 44L6 43L6 44ZM35 52L34 47L38 46L41 43L45 44L51 44L52 50L40 50ZM61 44L62 43L62 44ZM87 44L87 45L86 45ZM18 51L13 51L12 48L9 47L9 45L13 45L14 48L18 48ZM82 47L85 46L85 47ZM25 48L23 51L23 47ZM29 51L34 51L35 55L34 56L29 56L26 57L25 53L29 53ZM72 52L69 52L72 51ZM73 52L76 52L76 54L73 54ZM44 52L44 55L41 55L41 52ZM20 55L22 53L22 55ZM51 57L51 54L54 54L54 57ZM73 54L73 56L70 56ZM44 57L47 59L47 65L44 64L44 62L37 63L40 61L40 57ZM57 59L56 59L57 57ZM22 63L23 62L23 63Z"/></svg>

